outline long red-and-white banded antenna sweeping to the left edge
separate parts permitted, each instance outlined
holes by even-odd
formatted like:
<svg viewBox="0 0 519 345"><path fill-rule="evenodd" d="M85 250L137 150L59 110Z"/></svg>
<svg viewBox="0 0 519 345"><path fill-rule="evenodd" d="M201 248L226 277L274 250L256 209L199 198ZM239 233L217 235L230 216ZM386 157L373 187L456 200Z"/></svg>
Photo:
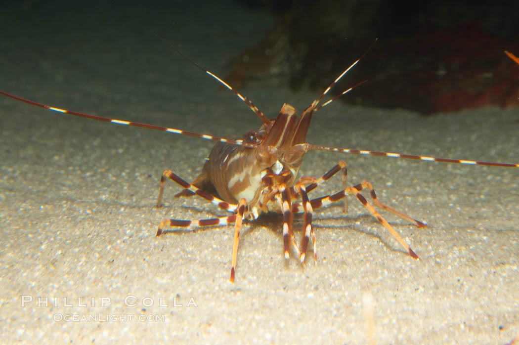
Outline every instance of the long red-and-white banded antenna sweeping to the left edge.
<svg viewBox="0 0 519 345"><path fill-rule="evenodd" d="M47 104L42 104L42 103L37 103L37 102L31 101L31 100L27 100L27 99L21 98L19 96L15 96L13 94L10 94L10 93L4 92L4 91L0 91L0 94L3 94L4 96L7 96L7 97L12 98L12 99L15 99L17 101L21 101L21 102L24 102L24 103L35 105L35 106L38 106L40 108L49 109L49 110L51 110L53 112L70 114L70 115L75 115L75 116L79 116L79 117L86 117L88 119L93 119L93 120L112 122L112 123L117 123L118 125L142 127L142 128L155 129L155 130L158 130L158 131L171 132L171 133L176 133L176 134L184 134L184 135L189 135L189 136L196 136L196 137L199 137L199 138L202 138L202 139L206 139L206 140L219 141L219 142L222 142L222 143L234 144L234 145L239 145L239 146L252 147L252 148L257 146L257 145L254 145L254 144L244 143L243 140L231 140L231 139L225 139L225 138L222 138L222 137L219 137L219 136L213 136L213 135L208 135L208 134L199 134L199 133L184 131L184 130L176 129L176 128L148 125L147 123L118 120L118 119L113 119L113 118L108 118L108 117L102 117L102 116L95 116L95 115L90 115L90 114L73 112L73 111L70 111L70 110L61 109L61 108L53 107L53 106L50 106L50 105L47 105Z"/></svg>

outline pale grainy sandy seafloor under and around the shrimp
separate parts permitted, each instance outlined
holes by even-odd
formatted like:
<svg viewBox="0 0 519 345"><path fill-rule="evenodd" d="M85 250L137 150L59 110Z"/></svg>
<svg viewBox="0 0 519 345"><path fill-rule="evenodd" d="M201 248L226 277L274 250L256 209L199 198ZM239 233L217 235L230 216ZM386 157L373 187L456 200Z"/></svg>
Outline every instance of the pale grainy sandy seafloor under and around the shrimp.
<svg viewBox="0 0 519 345"><path fill-rule="evenodd" d="M239 8L195 16L183 6L192 17L176 14L173 25L157 9L145 19L160 13L158 24L144 32L118 22L92 25L92 32L72 22L50 32L25 27L27 37L2 43L1 89L213 135L257 128L260 121L236 96L153 34L167 27L189 57L225 74L225 63L261 38L251 23L268 17ZM55 35L60 25L72 32ZM301 110L318 96L268 81L241 91L269 117L283 102ZM335 102L315 115L308 141L519 162L518 119L517 108L425 118ZM164 217L225 215L201 199L173 198L180 190L173 183L166 207L153 208L161 172L190 180L211 146L0 98L0 341L505 344L519 332L519 169L308 153L304 175L346 160L350 184L372 182L381 201L427 223L418 229L383 213L421 261L350 198L348 215L340 205L315 212L317 264L311 256L305 265L285 261L281 216L246 225L232 284L233 227L155 237ZM340 185L335 177L312 195ZM301 228L297 218L297 237ZM372 297L371 309L363 296ZM32 300L22 306L24 298ZM59 321L92 315L100 321ZM142 315L155 321L130 319Z"/></svg>

